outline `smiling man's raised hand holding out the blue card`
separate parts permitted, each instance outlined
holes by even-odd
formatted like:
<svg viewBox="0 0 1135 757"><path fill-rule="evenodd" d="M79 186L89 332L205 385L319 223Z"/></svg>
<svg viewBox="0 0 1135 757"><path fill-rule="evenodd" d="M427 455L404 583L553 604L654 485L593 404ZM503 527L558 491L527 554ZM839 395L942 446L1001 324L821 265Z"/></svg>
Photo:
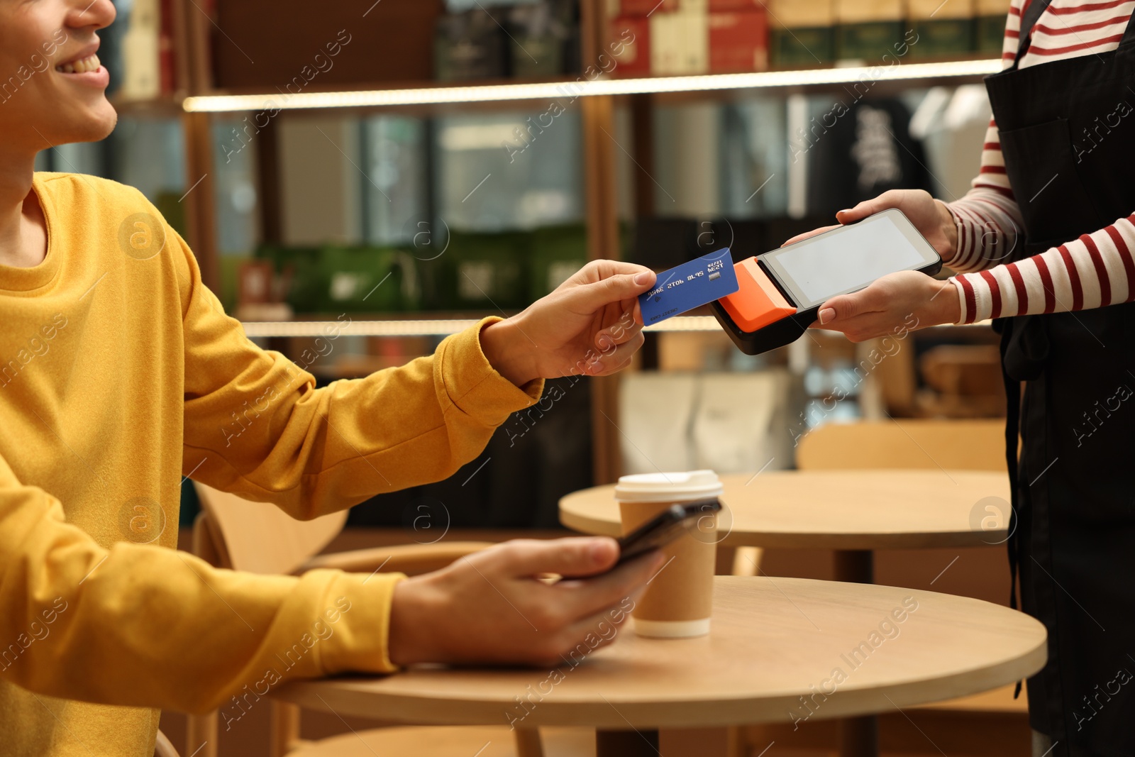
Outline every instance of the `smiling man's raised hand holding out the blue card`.
<svg viewBox="0 0 1135 757"><path fill-rule="evenodd" d="M487 326L481 348L516 386L538 378L607 376L642 346L638 296L654 286L649 268L595 260L524 312Z"/></svg>

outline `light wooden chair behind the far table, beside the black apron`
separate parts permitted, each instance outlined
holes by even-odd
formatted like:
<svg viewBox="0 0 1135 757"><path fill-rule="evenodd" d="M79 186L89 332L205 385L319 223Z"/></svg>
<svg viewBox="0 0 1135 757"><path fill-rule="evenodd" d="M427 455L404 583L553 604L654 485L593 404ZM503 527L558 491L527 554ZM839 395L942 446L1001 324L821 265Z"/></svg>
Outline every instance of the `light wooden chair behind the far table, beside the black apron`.
<svg viewBox="0 0 1135 757"><path fill-rule="evenodd" d="M890 420L829 423L797 449L800 470L913 468L1007 471L1003 420ZM993 552L989 550L992 555ZM991 570L995 570L991 565ZM926 705L933 709L1027 713L1012 685Z"/></svg>

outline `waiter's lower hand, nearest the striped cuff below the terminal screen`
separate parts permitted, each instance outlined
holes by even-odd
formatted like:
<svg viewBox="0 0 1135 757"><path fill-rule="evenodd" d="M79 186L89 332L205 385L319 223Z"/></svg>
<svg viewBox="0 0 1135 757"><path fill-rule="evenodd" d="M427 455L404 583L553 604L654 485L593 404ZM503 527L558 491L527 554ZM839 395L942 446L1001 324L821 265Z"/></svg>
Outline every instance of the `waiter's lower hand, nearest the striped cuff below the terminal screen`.
<svg viewBox="0 0 1135 757"><path fill-rule="evenodd" d="M957 323L961 301L950 281L919 271L890 274L866 289L832 297L819 306L813 327L843 331L852 342Z"/></svg>

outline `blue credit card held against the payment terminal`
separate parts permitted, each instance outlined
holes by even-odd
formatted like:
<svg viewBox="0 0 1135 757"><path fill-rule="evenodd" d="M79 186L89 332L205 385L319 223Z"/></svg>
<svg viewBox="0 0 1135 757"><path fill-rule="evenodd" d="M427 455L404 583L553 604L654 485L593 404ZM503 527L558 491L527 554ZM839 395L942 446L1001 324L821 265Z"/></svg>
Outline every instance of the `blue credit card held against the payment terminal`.
<svg viewBox="0 0 1135 757"><path fill-rule="evenodd" d="M711 252L704 258L658 274L654 288L639 295L642 322L646 326L662 322L721 300L739 288L729 250Z"/></svg>

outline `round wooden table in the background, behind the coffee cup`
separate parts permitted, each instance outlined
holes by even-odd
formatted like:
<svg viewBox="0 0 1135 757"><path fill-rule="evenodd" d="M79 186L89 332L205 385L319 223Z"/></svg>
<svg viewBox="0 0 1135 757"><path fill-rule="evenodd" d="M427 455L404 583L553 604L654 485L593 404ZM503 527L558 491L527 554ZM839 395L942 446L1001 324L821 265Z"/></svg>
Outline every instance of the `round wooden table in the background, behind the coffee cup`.
<svg viewBox="0 0 1135 757"><path fill-rule="evenodd" d="M1009 478L987 471L765 471L722 476L725 546L833 549L835 580L874 580L872 549L975 547L1008 539ZM614 485L569 494L560 522L622 533ZM878 752L874 717L840 727L842 757Z"/></svg>

